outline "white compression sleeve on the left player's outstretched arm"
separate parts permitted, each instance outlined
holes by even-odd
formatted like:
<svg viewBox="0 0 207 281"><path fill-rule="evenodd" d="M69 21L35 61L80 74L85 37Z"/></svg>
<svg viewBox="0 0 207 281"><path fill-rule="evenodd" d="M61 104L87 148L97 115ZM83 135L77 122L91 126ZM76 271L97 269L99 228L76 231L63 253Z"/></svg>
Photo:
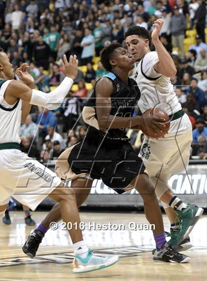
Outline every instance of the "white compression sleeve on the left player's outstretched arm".
<svg viewBox="0 0 207 281"><path fill-rule="evenodd" d="M62 83L50 93L33 90L30 103L37 106L46 107L51 110L57 109L63 103L64 98L68 94L72 84L73 80L69 77L66 77Z"/></svg>

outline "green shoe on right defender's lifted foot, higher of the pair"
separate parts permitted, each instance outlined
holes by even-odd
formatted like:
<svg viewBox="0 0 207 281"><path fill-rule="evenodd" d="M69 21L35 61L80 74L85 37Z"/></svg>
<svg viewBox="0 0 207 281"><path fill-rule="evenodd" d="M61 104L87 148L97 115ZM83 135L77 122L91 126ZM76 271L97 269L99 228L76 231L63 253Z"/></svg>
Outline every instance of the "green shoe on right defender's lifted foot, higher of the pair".
<svg viewBox="0 0 207 281"><path fill-rule="evenodd" d="M198 222L199 218L202 216L204 209L196 206L195 204L188 202L187 207L182 211L175 210L175 213L179 217L180 230L173 237L176 239L176 243L179 244L182 240L186 239L191 233L195 224Z"/></svg>

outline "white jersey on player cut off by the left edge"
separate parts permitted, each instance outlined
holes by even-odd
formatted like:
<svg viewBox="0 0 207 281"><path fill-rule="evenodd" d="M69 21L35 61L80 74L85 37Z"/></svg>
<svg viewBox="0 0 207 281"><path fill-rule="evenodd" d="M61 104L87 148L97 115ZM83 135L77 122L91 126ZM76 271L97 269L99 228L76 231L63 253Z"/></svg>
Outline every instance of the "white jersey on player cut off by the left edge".
<svg viewBox="0 0 207 281"><path fill-rule="evenodd" d="M4 100L4 92L12 80L6 80L0 86L0 143L20 143L20 126L22 116L22 101L17 100L14 105L9 105ZM0 84L2 80L0 79Z"/></svg>

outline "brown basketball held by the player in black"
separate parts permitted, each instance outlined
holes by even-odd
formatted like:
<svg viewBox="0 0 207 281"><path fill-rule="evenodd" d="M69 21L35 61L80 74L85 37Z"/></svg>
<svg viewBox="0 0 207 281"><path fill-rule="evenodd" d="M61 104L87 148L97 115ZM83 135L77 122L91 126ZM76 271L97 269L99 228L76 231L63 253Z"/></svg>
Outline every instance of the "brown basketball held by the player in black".
<svg viewBox="0 0 207 281"><path fill-rule="evenodd" d="M153 117L153 118L163 118L165 119L164 123L165 123L165 127L162 129L162 132L157 132L157 135L155 135L149 127L142 127L142 132L146 135L146 136L149 136L151 138L161 138L163 136L165 136L170 128L170 118L168 116L168 114L156 107L156 108L150 108L148 110L146 110L146 112L150 112L150 115Z"/></svg>

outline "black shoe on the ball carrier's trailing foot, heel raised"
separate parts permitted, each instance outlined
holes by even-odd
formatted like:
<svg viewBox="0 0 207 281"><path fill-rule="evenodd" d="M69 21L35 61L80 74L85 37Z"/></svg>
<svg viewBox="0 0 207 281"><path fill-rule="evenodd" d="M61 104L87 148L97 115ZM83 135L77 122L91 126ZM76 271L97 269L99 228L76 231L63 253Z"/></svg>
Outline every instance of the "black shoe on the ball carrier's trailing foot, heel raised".
<svg viewBox="0 0 207 281"><path fill-rule="evenodd" d="M34 258L43 237L44 234L41 231L34 230L22 247L23 252L27 256Z"/></svg>

